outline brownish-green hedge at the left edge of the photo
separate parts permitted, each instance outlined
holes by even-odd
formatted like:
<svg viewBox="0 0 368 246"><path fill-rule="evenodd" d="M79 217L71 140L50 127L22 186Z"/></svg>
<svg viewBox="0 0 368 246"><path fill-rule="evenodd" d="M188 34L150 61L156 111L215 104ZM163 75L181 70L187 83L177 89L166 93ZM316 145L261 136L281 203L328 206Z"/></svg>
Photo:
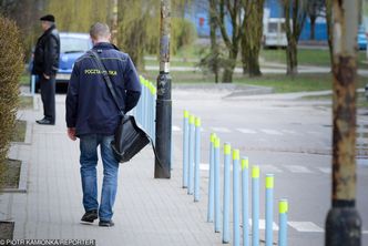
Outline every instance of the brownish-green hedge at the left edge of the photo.
<svg viewBox="0 0 368 246"><path fill-rule="evenodd" d="M13 21L0 17L0 166L3 168L17 116L23 70L20 33ZM3 172L1 172L3 173Z"/></svg>

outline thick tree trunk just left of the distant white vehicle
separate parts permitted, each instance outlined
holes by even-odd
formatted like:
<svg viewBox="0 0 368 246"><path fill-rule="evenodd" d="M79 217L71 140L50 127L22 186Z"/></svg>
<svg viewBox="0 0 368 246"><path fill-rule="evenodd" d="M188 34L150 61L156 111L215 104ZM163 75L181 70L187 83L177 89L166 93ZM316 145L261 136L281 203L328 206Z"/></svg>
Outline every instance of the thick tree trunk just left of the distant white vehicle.
<svg viewBox="0 0 368 246"><path fill-rule="evenodd" d="M260 75L259 50L263 35L264 0L244 1L244 22L242 35L243 73L249 76Z"/></svg>

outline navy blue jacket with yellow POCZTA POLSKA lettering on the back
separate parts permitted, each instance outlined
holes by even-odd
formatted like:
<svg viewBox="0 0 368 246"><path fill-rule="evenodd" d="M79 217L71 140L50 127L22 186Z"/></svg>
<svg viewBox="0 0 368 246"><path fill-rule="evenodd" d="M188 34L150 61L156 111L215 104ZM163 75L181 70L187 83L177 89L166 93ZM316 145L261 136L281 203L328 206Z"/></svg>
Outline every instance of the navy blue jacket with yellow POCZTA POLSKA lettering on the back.
<svg viewBox="0 0 368 246"><path fill-rule="evenodd" d="M111 43L98 43L99 54L111 78L124 112L132 110L141 95L140 79L131 58ZM67 125L76 135L112 135L120 111L93 58L85 53L74 63L67 94Z"/></svg>

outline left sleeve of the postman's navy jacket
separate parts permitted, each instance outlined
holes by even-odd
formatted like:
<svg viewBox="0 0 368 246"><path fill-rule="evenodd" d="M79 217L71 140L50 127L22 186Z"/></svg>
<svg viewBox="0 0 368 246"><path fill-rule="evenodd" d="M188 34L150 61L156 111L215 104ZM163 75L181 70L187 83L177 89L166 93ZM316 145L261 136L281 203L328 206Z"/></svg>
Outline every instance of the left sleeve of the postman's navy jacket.
<svg viewBox="0 0 368 246"><path fill-rule="evenodd" d="M65 106L67 106L67 126L75 127L76 125L76 116L78 116L78 98L79 98L79 65L75 63L72 75L70 78Z"/></svg>

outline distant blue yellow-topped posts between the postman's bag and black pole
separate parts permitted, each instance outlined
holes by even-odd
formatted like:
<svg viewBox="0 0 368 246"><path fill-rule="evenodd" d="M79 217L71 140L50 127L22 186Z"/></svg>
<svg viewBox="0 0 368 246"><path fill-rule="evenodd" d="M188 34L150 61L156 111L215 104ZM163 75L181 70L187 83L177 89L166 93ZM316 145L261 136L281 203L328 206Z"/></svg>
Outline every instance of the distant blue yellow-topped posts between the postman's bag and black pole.
<svg viewBox="0 0 368 246"><path fill-rule="evenodd" d="M155 140L156 86L140 76L142 84L141 99L133 110L136 121L142 125L151 139Z"/></svg>

